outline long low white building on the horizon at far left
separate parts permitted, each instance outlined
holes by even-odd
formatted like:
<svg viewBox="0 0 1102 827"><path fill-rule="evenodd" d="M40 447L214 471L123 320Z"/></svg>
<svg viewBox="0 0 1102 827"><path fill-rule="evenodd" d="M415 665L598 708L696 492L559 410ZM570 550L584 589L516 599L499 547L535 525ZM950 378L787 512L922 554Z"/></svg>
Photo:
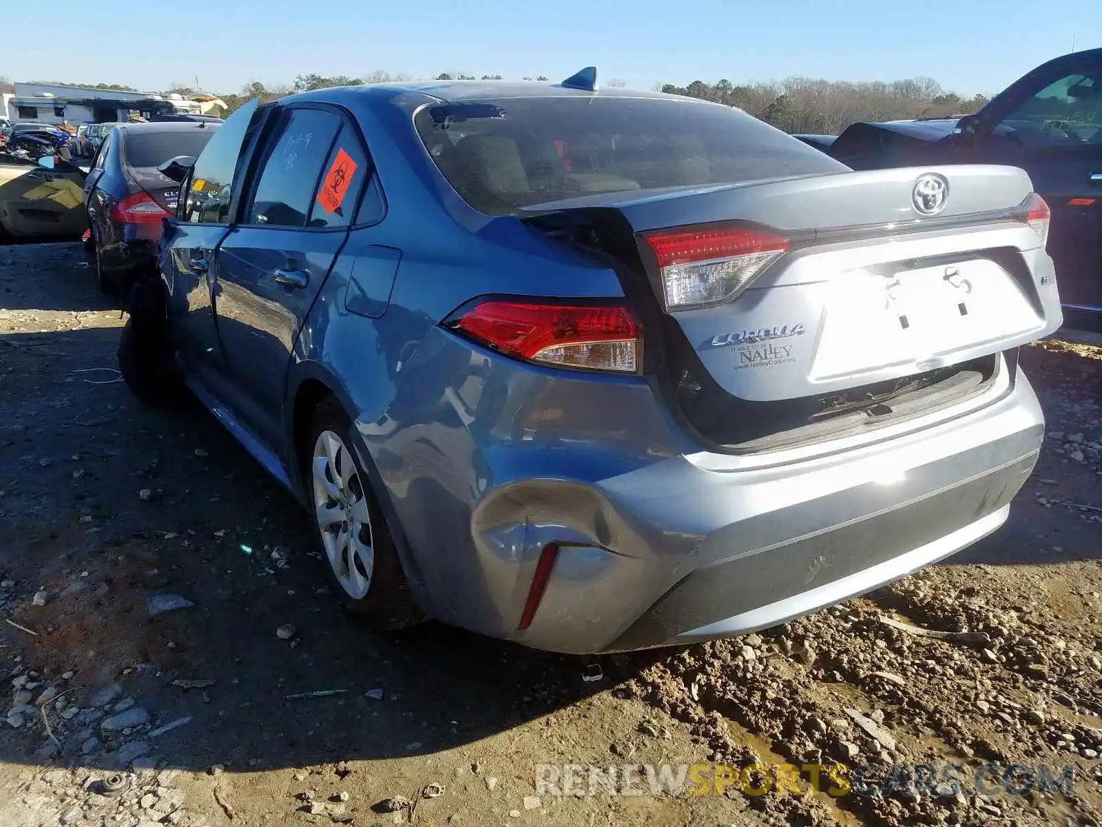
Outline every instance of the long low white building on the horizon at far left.
<svg viewBox="0 0 1102 827"><path fill-rule="evenodd" d="M149 119L154 114L217 115L220 100L203 96L193 100L181 95L152 92L117 92L61 84L17 83L13 95L3 95L0 116L12 122L107 123L127 120L131 112Z"/></svg>

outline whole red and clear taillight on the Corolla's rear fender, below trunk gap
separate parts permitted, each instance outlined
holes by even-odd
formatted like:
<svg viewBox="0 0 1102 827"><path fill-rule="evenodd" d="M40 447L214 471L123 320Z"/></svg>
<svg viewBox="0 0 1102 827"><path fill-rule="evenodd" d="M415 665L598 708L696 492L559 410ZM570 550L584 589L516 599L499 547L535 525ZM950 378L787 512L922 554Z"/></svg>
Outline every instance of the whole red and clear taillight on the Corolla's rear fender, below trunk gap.
<svg viewBox="0 0 1102 827"><path fill-rule="evenodd" d="M450 326L527 362L617 373L638 373L642 362L642 331L620 305L488 300Z"/></svg>

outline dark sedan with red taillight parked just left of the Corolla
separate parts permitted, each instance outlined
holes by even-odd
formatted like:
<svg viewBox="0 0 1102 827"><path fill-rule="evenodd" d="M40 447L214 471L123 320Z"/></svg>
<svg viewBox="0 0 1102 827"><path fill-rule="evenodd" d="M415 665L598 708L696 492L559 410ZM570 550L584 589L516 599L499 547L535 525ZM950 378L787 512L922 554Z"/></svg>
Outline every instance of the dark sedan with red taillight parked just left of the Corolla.
<svg viewBox="0 0 1102 827"><path fill-rule="evenodd" d="M176 155L197 155L217 123L120 123L93 161L84 184L96 279L118 292L152 260L161 221L176 208L180 186L159 170Z"/></svg>

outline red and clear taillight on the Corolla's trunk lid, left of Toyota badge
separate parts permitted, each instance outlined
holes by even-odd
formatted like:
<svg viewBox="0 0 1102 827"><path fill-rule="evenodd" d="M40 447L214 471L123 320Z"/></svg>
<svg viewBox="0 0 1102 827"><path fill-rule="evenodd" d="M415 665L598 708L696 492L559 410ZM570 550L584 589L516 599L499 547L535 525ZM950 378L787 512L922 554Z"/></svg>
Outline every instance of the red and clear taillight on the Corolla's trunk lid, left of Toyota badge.
<svg viewBox="0 0 1102 827"><path fill-rule="evenodd" d="M749 227L659 230L644 238L658 259L667 310L731 301L790 247L784 236Z"/></svg>

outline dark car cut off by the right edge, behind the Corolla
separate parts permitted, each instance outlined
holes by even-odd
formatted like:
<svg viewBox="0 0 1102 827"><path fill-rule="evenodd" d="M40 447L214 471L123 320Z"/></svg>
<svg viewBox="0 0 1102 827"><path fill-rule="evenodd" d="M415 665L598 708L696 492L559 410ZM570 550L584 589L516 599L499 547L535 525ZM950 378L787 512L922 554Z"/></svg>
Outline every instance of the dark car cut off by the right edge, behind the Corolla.
<svg viewBox="0 0 1102 827"><path fill-rule="evenodd" d="M854 169L1024 169L1052 211L1048 250L1065 316L1102 330L1102 49L1049 61L959 120L854 125L830 152Z"/></svg>

